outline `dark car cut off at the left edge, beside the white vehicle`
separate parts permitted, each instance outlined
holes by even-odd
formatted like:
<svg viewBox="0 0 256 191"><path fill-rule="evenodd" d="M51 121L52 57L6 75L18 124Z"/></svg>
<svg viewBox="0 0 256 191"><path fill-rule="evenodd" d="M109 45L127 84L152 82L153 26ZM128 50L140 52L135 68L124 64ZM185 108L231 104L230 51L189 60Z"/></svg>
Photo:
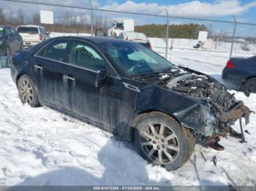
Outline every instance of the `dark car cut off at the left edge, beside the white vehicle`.
<svg viewBox="0 0 256 191"><path fill-rule="evenodd" d="M23 49L23 40L20 34L10 26L0 26L0 55L10 56Z"/></svg>

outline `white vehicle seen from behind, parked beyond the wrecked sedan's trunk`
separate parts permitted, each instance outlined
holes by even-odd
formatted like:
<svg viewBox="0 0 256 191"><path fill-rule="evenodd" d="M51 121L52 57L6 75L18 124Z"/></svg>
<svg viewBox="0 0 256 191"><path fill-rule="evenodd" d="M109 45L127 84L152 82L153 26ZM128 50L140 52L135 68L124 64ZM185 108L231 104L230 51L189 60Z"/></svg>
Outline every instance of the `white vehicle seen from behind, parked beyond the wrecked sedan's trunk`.
<svg viewBox="0 0 256 191"><path fill-rule="evenodd" d="M39 42L50 39L50 33L48 33L42 26L18 26L17 31L23 38L23 46L25 48L33 47Z"/></svg>

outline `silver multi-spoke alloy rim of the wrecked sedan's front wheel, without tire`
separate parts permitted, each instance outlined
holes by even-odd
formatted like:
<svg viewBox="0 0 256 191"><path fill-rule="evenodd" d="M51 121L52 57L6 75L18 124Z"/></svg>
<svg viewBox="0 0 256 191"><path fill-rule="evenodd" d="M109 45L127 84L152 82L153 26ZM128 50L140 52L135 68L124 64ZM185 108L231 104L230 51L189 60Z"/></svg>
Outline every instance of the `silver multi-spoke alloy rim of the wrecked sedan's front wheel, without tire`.
<svg viewBox="0 0 256 191"><path fill-rule="evenodd" d="M178 136L162 122L149 122L140 132L140 147L159 164L173 163L180 152Z"/></svg>

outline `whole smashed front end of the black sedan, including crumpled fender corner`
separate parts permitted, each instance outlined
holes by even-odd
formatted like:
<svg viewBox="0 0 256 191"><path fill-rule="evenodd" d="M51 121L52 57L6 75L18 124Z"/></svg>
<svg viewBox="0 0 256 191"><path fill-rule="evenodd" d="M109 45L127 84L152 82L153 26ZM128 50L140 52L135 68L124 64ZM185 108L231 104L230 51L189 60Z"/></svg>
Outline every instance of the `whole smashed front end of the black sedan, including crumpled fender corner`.
<svg viewBox="0 0 256 191"><path fill-rule="evenodd" d="M208 144L216 136L226 136L238 119L244 117L246 125L249 122L252 111L211 77L184 73L163 83L171 90L201 100L199 104L174 114L181 119L181 125L192 129L200 144ZM195 128L198 125L203 128Z"/></svg>

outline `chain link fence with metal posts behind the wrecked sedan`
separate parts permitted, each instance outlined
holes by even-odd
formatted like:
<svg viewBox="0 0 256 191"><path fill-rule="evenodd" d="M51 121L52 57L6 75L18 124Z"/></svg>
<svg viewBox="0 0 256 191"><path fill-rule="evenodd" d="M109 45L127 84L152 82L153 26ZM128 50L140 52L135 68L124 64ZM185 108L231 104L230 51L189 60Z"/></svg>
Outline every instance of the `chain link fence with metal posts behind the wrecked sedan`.
<svg viewBox="0 0 256 191"><path fill-rule="evenodd" d="M97 29L108 36L113 23L124 20L134 21L135 32L146 34L154 51L192 69L221 71L231 56L249 57L256 52L256 24L237 22L236 18L211 20L167 11L154 15L96 7L91 1L69 5L0 0L1 61L50 37L94 36ZM200 40L203 33L206 36Z"/></svg>

